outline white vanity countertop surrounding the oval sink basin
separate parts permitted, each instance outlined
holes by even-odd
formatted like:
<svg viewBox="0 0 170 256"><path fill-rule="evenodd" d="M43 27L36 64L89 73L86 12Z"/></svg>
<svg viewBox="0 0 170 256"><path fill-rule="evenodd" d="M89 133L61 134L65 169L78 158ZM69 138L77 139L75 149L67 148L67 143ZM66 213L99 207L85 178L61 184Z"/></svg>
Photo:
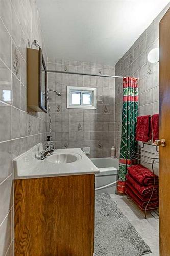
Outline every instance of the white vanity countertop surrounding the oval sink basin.
<svg viewBox="0 0 170 256"><path fill-rule="evenodd" d="M38 157L41 151L42 143L39 143L31 148L31 150L23 153L13 160L14 179L99 173L99 169L84 154L81 148L67 148L54 151L52 156L55 154L73 154L78 156L77 161L69 163L54 163L55 161L51 162L51 156L47 156L47 158L44 160L39 160Z"/></svg>

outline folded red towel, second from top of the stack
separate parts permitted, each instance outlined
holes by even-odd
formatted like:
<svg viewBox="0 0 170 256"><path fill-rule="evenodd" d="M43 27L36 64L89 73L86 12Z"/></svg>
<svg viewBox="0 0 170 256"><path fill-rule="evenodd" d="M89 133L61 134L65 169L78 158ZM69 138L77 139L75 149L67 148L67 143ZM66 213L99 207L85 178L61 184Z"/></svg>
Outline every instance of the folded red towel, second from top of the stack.
<svg viewBox="0 0 170 256"><path fill-rule="evenodd" d="M135 181L129 174L126 175L126 183L131 184L134 189L138 192L139 195L143 197L150 197L152 190L153 190L153 185L149 186L143 186L137 181ZM159 186L155 185L154 187L154 195L158 196L158 191L159 191Z"/></svg>

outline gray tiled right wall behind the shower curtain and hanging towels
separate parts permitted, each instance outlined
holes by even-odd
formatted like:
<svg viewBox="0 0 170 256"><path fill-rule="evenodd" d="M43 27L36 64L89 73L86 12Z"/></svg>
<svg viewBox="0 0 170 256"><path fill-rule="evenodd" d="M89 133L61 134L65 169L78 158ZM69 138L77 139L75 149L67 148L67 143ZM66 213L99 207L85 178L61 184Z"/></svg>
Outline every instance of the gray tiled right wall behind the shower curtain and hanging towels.
<svg viewBox="0 0 170 256"><path fill-rule="evenodd" d="M139 77L139 115L153 115L159 112L159 63L149 63L147 56L150 50L159 47L159 22L169 6L168 4L161 11L115 65L115 75ZM115 146L117 158L119 158L120 152L121 121L122 80L116 78ZM152 151L151 146L150 151Z"/></svg>

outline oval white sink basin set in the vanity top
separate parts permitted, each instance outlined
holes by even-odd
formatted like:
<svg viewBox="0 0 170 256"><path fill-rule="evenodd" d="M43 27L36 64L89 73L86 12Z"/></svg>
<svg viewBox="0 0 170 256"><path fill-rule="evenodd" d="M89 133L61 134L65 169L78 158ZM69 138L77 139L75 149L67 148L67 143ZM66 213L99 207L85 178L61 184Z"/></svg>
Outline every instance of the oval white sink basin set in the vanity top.
<svg viewBox="0 0 170 256"><path fill-rule="evenodd" d="M82 156L72 152L59 152L47 157L47 161L56 164L67 164L77 162L82 159Z"/></svg>

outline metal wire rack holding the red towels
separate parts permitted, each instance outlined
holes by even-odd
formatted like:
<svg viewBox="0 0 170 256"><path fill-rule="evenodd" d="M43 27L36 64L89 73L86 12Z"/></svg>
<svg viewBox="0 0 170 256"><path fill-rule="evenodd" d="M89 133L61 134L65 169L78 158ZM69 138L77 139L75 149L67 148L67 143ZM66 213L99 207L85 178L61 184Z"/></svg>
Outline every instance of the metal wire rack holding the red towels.
<svg viewBox="0 0 170 256"><path fill-rule="evenodd" d="M151 151L145 150L144 149L145 145L155 147L156 151L155 152L151 152ZM146 154L149 154L151 156L148 156ZM155 189L154 164L159 164L159 150L158 150L158 146L152 145L152 144L143 143L142 145L139 145L136 148L136 151L132 151L131 158L134 159L135 161L138 161L138 163L143 162L143 163L146 163L146 164L152 164L153 189L152 189L152 192L151 192L151 196L150 196L150 198L149 198L149 200L148 200L148 202L147 202L147 204L146 204L146 206L144 208L144 218L146 219L147 218L147 211L154 210L154 209L158 208L158 207L156 207L156 208L148 208L149 202L151 201L151 198L153 196L154 189ZM129 198L129 196L128 196L128 198Z"/></svg>

